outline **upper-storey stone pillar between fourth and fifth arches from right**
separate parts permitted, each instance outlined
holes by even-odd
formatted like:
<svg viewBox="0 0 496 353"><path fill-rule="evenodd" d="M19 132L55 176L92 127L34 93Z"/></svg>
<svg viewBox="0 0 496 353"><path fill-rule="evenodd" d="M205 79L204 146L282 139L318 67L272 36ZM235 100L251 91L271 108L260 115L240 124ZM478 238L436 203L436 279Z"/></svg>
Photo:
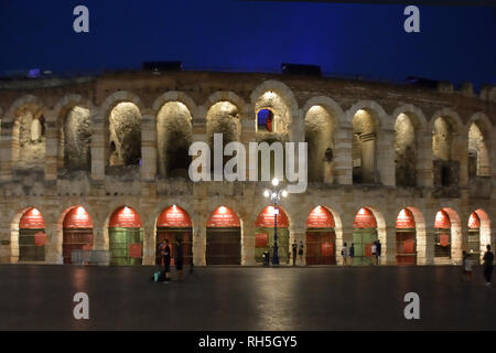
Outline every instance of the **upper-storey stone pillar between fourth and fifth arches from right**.
<svg viewBox="0 0 496 353"><path fill-rule="evenodd" d="M352 127L341 126L335 139L334 175L338 184L351 185L353 184Z"/></svg>

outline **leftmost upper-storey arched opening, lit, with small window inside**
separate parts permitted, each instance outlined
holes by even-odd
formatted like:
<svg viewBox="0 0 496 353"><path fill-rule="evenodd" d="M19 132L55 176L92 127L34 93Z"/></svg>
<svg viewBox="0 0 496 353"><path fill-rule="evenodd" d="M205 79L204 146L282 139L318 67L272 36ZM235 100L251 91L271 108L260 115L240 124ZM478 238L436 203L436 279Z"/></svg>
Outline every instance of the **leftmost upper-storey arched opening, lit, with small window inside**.
<svg viewBox="0 0 496 353"><path fill-rule="evenodd" d="M12 160L15 167L44 165L45 130L45 117L41 107L30 104L18 109L12 129Z"/></svg>

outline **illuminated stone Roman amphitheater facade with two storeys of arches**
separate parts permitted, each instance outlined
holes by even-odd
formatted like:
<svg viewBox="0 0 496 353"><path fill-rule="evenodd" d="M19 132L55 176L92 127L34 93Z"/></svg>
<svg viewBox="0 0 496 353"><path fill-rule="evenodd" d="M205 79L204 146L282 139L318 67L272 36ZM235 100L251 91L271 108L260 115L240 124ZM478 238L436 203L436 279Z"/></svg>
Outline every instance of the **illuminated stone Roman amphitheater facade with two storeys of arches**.
<svg viewBox="0 0 496 353"><path fill-rule="evenodd" d="M258 121L260 110L271 117L269 130ZM496 87L475 94L471 85L122 72L0 82L0 118L2 264L20 261L20 223L29 210L44 222L41 263L56 264L71 210L84 207L90 216L93 248L109 249L109 220L127 206L141 220L142 264L151 265L158 218L177 205L191 217L195 265L207 264L207 223L219 206L239 221L240 264L255 265L269 183L187 176L190 145L212 143L215 132L245 145L309 143L308 190L281 204L289 244L306 244L308 217L321 206L332 214L338 264L363 210L375 220L382 264L398 261L402 210L414 218L419 265L460 261L474 213L478 248L495 245ZM435 254L440 212L449 220L444 257Z"/></svg>

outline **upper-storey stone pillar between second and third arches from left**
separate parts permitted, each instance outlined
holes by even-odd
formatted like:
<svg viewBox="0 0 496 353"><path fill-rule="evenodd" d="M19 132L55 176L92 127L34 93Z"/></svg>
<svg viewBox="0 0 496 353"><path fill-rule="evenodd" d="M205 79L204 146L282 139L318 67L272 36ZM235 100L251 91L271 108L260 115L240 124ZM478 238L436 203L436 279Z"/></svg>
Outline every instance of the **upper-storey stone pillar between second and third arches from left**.
<svg viewBox="0 0 496 353"><path fill-rule="evenodd" d="M107 165L106 156L106 121L100 109L96 109L91 116L91 179L96 182L103 182L105 179L105 167Z"/></svg>

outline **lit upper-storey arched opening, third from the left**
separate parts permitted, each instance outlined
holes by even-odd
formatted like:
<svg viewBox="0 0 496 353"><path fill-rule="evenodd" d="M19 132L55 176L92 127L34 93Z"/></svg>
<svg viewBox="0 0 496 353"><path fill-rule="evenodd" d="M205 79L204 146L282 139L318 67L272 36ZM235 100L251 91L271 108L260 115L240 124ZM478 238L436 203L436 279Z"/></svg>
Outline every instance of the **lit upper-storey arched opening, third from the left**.
<svg viewBox="0 0 496 353"><path fill-rule="evenodd" d="M129 101L119 103L109 118L109 165L139 165L141 162L141 114Z"/></svg>

